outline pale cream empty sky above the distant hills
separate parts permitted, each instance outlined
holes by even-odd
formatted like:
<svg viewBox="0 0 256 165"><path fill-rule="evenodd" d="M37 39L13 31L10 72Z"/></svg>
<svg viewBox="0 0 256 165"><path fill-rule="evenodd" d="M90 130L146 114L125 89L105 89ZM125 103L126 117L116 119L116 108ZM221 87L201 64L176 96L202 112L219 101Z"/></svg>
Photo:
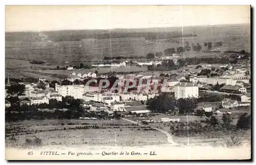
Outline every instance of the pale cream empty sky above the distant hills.
<svg viewBox="0 0 256 165"><path fill-rule="evenodd" d="M6 6L6 32L250 23L250 6Z"/></svg>

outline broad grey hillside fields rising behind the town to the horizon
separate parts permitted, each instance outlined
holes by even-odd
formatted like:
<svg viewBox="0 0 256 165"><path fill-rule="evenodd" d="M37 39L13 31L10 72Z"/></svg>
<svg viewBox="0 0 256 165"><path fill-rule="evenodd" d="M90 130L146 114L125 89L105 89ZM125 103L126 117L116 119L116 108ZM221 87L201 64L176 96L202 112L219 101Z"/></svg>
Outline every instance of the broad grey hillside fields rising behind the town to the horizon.
<svg viewBox="0 0 256 165"><path fill-rule="evenodd" d="M126 33L122 34L120 31ZM112 57L145 57L149 52L154 53L178 46L170 42L162 42L164 41L161 37L163 33L182 32L181 28L137 29L135 31L128 33L129 30L112 30L112 39L109 39L109 32L106 33L106 31L6 33L6 57L42 60L55 62L58 65L65 61L102 60L104 56L110 57L110 54ZM156 41L145 39L151 32L157 33ZM244 49L250 52L249 24L186 26L182 33L197 34L197 36L174 38L180 41L180 45L183 45L183 41L189 42L189 45L200 43L203 51L204 42L212 42L214 45L216 41L223 41L222 49ZM78 39L74 41L76 37Z"/></svg>

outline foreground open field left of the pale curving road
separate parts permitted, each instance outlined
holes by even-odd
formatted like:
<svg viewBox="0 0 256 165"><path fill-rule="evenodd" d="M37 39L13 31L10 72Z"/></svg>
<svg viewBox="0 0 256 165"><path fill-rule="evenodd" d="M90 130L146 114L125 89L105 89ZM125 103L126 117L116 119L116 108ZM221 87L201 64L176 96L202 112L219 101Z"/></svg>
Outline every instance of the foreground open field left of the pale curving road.
<svg viewBox="0 0 256 165"><path fill-rule="evenodd" d="M93 130L92 130L93 129ZM6 123L7 147L22 147L34 136L42 145L158 145L166 144L166 135L157 130L123 120L29 120Z"/></svg>

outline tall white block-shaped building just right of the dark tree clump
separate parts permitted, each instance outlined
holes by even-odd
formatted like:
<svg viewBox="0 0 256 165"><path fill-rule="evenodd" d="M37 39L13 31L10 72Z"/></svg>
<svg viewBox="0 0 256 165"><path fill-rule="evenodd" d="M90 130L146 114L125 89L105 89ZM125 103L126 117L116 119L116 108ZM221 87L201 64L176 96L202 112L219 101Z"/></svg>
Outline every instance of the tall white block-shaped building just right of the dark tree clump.
<svg viewBox="0 0 256 165"><path fill-rule="evenodd" d="M198 98L198 86L190 82L180 82L174 86L174 95L176 99L179 98Z"/></svg>

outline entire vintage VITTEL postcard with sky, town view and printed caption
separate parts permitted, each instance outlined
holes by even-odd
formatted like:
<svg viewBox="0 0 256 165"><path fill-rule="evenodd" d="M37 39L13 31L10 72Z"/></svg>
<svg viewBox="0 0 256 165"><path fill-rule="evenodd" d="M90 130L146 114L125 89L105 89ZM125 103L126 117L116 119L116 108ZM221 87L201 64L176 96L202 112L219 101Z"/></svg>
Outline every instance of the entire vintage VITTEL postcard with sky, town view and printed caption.
<svg viewBox="0 0 256 165"><path fill-rule="evenodd" d="M251 6L6 6L6 160L251 159Z"/></svg>

